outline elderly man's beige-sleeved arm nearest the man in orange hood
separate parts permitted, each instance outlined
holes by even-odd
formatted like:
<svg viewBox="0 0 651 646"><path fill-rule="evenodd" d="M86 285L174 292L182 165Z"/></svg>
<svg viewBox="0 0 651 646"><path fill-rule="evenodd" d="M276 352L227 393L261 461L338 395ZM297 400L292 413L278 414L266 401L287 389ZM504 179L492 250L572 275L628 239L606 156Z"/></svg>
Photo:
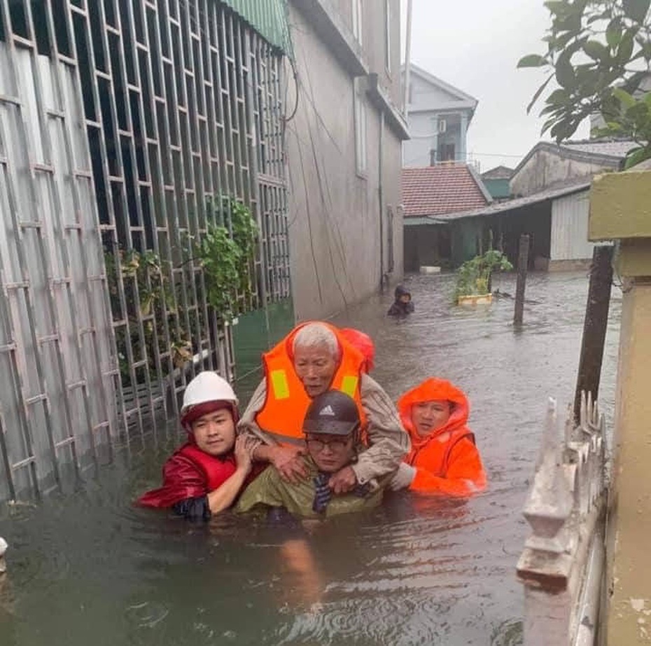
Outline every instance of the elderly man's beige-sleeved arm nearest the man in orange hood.
<svg viewBox="0 0 651 646"><path fill-rule="evenodd" d="M358 483L364 484L398 469L411 444L409 434L398 418L398 411L384 388L367 374L362 375L360 387L369 448L360 454L353 471Z"/></svg>

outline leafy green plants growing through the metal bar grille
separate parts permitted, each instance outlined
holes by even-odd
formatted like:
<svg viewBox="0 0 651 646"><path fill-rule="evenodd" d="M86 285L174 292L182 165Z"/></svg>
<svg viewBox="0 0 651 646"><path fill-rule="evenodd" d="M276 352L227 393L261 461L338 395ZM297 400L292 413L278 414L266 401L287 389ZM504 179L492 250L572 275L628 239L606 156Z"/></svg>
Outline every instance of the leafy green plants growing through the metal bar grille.
<svg viewBox="0 0 651 646"><path fill-rule="evenodd" d="M231 322L251 308L251 275L258 227L251 210L232 198L209 200L207 219L207 232L199 240L190 236L183 240L179 249L180 266L190 261L200 263L208 304L214 308L219 320ZM136 360L147 357L150 370L155 370L157 342L160 354L169 352L175 368L190 361L193 353L199 350L198 344L193 348L192 336L193 331L204 323L200 320L202 308L198 313L193 309L187 319L179 316L177 303L181 303L183 280L174 280L172 263L162 261L151 250L138 252L135 249L128 252L123 249L106 251L104 261L113 320L126 319L129 322L128 328L123 325L116 327L118 364L123 383L130 380L128 345ZM118 286L118 267L123 277L124 304ZM165 312L169 347L165 347ZM143 323L143 337L139 332L140 320ZM162 369L165 373L165 364ZM136 378L141 382L141 369L137 371Z"/></svg>

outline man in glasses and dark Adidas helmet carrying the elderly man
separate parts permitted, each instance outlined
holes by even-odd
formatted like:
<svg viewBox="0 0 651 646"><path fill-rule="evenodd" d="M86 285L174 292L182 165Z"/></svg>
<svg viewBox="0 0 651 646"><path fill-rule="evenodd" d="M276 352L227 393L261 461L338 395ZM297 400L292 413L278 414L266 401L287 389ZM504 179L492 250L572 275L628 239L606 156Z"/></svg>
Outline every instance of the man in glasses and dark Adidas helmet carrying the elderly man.
<svg viewBox="0 0 651 646"><path fill-rule="evenodd" d="M302 426L307 455L300 459L307 478L290 482L277 469L267 468L244 490L236 511L264 505L283 507L295 516L319 518L377 507L392 474L358 484L340 495L334 495L329 486L332 474L355 464L363 451L354 399L339 390L318 395L311 401Z"/></svg>

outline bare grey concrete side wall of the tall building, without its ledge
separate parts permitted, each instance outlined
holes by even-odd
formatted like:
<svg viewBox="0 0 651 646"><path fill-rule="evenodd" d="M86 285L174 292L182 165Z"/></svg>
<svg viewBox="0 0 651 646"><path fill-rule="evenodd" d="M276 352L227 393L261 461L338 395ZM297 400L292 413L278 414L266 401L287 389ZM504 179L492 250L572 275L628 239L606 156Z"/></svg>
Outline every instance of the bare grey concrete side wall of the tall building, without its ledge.
<svg viewBox="0 0 651 646"><path fill-rule="evenodd" d="M398 2L393 5L398 17ZM344 4L333 6L339 6L339 18L344 20ZM377 17L371 20L368 7L363 8L366 48L374 42L369 32L374 31L373 20ZM384 15L384 11L381 13ZM388 207L393 209L394 277L400 277L400 140L387 125L381 128L377 109L365 100L367 172L356 172L354 80L319 39L309 14L297 11L293 4L290 24L299 96L296 114L287 124L286 133L289 242L295 316L300 320L328 317L379 289L381 276L388 269ZM392 36L396 46L392 52L391 78L398 85L399 20L395 20ZM384 47L384 38L375 44ZM365 60L381 61L377 72L380 81L386 81L384 50L371 52ZM375 70L370 67L370 71ZM398 97L399 90L394 85L387 93ZM295 101L295 90L295 84L290 83L289 106Z"/></svg>

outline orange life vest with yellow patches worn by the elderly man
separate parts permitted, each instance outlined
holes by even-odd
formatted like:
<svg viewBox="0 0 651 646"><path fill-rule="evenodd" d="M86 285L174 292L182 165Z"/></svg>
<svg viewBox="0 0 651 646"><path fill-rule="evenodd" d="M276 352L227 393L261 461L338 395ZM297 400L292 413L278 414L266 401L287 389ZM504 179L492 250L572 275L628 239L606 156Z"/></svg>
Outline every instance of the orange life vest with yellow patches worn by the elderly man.
<svg viewBox="0 0 651 646"><path fill-rule="evenodd" d="M281 441L303 439L303 419L311 399L298 378L293 364L293 341L297 332L307 325L302 323L295 327L272 350L262 355L267 382L267 397L255 421L265 432L276 436ZM337 336L341 359L332 378L330 390L341 390L352 397L362 420L362 429L366 426L366 415L362 408L360 378L365 365L364 355L328 323L323 323Z"/></svg>

